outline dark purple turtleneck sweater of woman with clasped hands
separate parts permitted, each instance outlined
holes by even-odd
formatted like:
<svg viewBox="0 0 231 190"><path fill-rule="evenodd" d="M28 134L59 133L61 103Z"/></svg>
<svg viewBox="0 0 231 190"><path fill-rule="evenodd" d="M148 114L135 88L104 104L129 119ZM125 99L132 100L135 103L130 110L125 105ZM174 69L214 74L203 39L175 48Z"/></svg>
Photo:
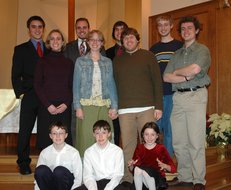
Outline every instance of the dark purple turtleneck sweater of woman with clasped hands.
<svg viewBox="0 0 231 190"><path fill-rule="evenodd" d="M72 103L73 62L62 52L49 52L36 64L34 87L45 107L52 102Z"/></svg>

